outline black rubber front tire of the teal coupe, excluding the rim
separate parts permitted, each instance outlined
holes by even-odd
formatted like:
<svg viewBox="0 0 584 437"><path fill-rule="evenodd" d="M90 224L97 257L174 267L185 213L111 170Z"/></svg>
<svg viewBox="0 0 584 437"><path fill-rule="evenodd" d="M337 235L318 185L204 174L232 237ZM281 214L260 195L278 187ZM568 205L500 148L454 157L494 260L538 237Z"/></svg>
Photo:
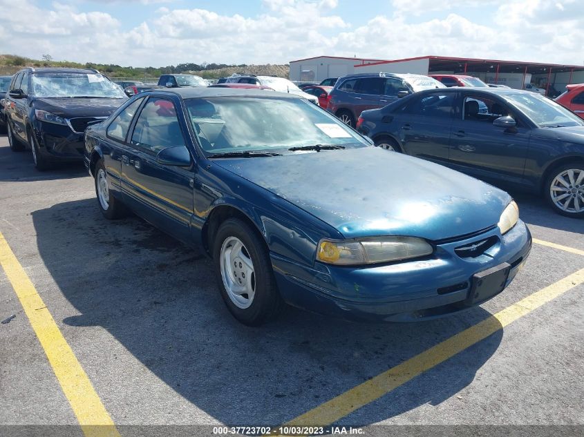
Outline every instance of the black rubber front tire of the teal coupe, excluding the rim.
<svg viewBox="0 0 584 437"><path fill-rule="evenodd" d="M256 290L252 304L245 309L241 309L234 304L231 298L229 298L225 284L223 284L223 276L221 275L221 247L228 237L237 237L241 240L254 263ZM272 300L279 298L279 296L274 296L274 293L277 293L277 291L274 289L274 273L269 260L270 258L262 242L257 237L255 231L245 222L239 219L228 219L219 226L214 237L213 246L216 280L227 309L243 324L257 326L263 323L270 317L269 313L273 303Z"/></svg>

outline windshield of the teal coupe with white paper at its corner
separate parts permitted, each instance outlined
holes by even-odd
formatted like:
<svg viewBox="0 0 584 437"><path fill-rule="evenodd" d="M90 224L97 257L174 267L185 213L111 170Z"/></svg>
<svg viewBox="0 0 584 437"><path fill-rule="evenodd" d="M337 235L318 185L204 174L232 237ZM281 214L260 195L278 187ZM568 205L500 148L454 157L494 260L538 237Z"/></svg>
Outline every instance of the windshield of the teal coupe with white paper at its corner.
<svg viewBox="0 0 584 437"><path fill-rule="evenodd" d="M205 153L271 151L292 147L370 144L354 130L303 99L208 97L185 100ZM302 152L296 152L302 153Z"/></svg>

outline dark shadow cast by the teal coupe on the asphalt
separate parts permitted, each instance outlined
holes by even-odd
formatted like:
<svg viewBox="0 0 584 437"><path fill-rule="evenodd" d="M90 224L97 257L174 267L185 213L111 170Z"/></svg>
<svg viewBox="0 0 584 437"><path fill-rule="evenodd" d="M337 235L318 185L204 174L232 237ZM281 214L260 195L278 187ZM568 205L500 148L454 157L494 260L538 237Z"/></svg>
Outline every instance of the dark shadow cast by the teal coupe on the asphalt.
<svg viewBox="0 0 584 437"><path fill-rule="evenodd" d="M225 308L211 261L201 251L135 216L109 222L95 202L32 213L41 258L80 313L63 317L65 335L83 344L84 338L92 341L87 327L103 327L177 394L226 425L285 423L490 315L477 307L440 320L358 324L289 308L264 327L245 327ZM451 398L473 381L501 338L499 330L462 352L460 360L364 408L365 416L357 411L349 418L368 425ZM93 367L100 372L93 378L122 385L128 376L119 358L110 356L111 348L90 349L100 350L105 355L100 361L112 366ZM139 394L116 389L115 396L122 397L117 405L151 402L143 407L156 409L160 402L150 396L156 387ZM131 420L131 411L126 413ZM200 420L184 409L171 417L173 423Z"/></svg>

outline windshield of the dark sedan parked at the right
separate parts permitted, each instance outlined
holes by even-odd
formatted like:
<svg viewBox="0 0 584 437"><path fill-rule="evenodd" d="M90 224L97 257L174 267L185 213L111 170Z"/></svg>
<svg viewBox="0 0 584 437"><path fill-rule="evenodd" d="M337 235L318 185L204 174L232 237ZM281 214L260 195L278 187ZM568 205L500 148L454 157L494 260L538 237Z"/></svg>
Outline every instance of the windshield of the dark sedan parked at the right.
<svg viewBox="0 0 584 437"><path fill-rule="evenodd" d="M555 101L534 93L502 95L540 128L584 126L584 120Z"/></svg>

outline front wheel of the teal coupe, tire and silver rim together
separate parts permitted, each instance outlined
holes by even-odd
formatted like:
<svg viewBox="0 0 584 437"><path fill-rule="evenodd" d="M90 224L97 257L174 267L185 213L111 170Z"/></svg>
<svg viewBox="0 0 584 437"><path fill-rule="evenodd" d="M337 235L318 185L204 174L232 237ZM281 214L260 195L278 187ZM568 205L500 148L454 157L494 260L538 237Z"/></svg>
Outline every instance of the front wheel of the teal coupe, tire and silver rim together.
<svg viewBox="0 0 584 437"><path fill-rule="evenodd" d="M258 326L281 311L270 257L251 226L225 220L214 238L213 260L221 297L239 322Z"/></svg>

